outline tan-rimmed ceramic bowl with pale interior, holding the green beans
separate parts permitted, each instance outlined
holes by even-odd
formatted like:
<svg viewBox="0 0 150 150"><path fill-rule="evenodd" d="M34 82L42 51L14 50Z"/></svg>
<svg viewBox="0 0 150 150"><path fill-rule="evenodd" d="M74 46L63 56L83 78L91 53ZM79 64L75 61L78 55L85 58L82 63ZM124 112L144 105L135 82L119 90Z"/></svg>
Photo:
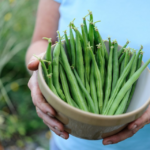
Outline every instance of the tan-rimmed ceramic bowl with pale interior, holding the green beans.
<svg viewBox="0 0 150 150"><path fill-rule="evenodd" d="M108 50L108 41L105 41L105 45ZM54 47L55 45L52 46L52 51ZM150 70L148 68L143 71L137 81L127 112L121 115L93 114L70 106L49 89L42 75L41 64L38 68L38 84L47 102L56 110L56 118L65 125L65 130L83 139L97 140L116 134L128 123L139 118L150 104Z"/></svg>

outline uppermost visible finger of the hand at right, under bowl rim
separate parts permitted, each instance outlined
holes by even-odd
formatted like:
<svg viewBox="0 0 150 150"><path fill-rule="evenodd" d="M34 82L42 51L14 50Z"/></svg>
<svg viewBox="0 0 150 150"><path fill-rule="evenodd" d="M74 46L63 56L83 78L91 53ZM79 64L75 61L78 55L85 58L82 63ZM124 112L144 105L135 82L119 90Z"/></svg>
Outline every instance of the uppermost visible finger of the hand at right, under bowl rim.
<svg viewBox="0 0 150 150"><path fill-rule="evenodd" d="M149 123L150 123L150 106L140 118L138 118L137 120L128 125L128 129L133 130L135 128L144 126Z"/></svg>

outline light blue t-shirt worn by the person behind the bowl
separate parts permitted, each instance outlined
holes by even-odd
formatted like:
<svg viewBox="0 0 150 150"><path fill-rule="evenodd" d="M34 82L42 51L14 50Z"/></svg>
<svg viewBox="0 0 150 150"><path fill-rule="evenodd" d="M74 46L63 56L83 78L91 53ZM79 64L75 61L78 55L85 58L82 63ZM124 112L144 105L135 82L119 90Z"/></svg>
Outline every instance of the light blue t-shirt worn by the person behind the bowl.
<svg viewBox="0 0 150 150"><path fill-rule="evenodd" d="M102 38L116 39L123 46L127 39L129 47L139 49L143 45L144 62L150 58L150 1L141 0L55 0L60 3L59 31L63 35L69 22L74 18L80 27L82 18L93 12L94 21ZM53 134L60 150L150 150L150 124L139 130L133 137L117 144L104 146L102 140L83 140L69 136L68 140Z"/></svg>

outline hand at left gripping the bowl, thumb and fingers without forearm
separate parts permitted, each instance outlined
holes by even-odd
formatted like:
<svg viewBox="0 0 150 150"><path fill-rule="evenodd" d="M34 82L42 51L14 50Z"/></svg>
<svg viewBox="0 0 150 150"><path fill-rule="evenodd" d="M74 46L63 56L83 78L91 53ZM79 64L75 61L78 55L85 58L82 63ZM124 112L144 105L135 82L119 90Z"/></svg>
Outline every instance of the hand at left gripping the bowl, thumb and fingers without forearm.
<svg viewBox="0 0 150 150"><path fill-rule="evenodd" d="M40 55L38 55L38 57L41 58L43 55L44 53L41 53ZM37 82L38 65L39 61L32 56L28 64L28 69L33 71L33 74L28 82L28 87L31 90L31 97L33 104L36 107L37 114L53 132L55 132L57 135L61 136L64 139L68 139L69 134L64 130L63 123L55 118L56 111L51 105L47 103L40 91Z"/></svg>

